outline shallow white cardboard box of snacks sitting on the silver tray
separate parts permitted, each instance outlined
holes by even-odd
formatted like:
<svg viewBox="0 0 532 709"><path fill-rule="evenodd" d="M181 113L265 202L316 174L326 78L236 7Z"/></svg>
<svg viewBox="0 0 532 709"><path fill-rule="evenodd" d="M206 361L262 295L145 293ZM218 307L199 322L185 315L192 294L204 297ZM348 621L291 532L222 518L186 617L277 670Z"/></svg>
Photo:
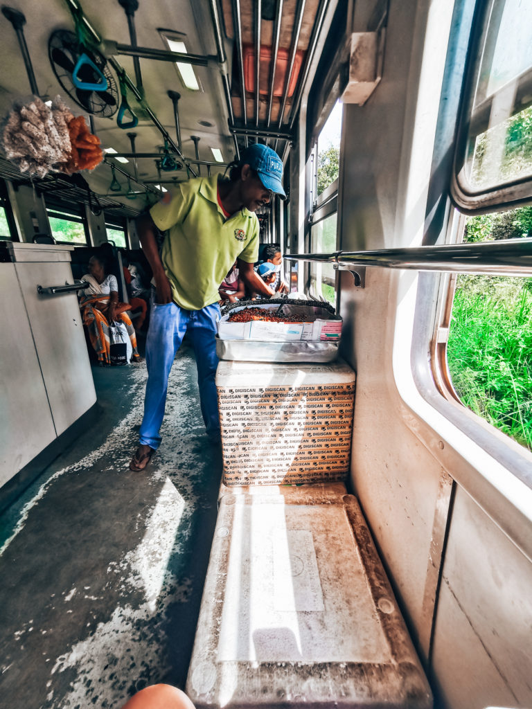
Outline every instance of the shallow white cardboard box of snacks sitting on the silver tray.
<svg viewBox="0 0 532 709"><path fill-rule="evenodd" d="M297 301L283 304L282 313L301 318L301 323L267 323L251 320L249 323L230 323L231 313L245 308L260 308L277 311L279 303L256 301L242 307L232 308L218 322L218 337L221 340L262 340L263 342L291 342L297 340L339 342L342 335L342 318L322 306L303 305Z"/></svg>

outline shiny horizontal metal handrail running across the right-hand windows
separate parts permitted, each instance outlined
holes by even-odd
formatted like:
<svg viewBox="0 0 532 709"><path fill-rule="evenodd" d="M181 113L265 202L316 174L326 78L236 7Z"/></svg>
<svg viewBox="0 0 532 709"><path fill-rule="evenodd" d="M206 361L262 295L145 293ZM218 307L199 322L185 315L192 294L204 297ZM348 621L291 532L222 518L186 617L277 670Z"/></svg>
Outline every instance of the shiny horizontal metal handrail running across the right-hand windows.
<svg viewBox="0 0 532 709"><path fill-rule="evenodd" d="M476 244L403 247L377 251L336 251L329 254L285 254L291 261L377 266L415 271L444 271L497 276L532 276L532 238Z"/></svg>

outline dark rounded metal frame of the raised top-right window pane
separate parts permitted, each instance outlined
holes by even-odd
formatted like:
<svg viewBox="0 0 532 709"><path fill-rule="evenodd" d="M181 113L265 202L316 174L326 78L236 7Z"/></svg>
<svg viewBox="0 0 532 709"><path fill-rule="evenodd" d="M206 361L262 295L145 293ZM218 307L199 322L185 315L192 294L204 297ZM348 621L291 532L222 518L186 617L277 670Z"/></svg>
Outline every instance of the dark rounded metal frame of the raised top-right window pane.
<svg viewBox="0 0 532 709"><path fill-rule="evenodd" d="M526 177L517 178L509 182L499 183L487 189L469 189L464 184L463 179L460 179L460 174L465 167L467 140L470 135L470 123L475 118L475 113L472 112L472 105L475 99L475 90L477 88L477 74L482 62L483 52L480 50L483 47L484 32L487 28L487 18L492 13L493 6L498 0L491 0L489 4L484 4L477 0L475 4L475 13L473 19L473 29L469 46L467 48L465 82L462 86L461 106L459 119L456 131L453 171L450 179L450 198L460 212L468 216L476 214L484 214L497 209L511 209L522 205L532 199L532 174ZM516 77L516 82L523 79L524 76L532 76L532 67L526 72L523 72ZM504 86L495 91L489 99L481 101L480 106L477 106L477 115L480 111L486 111L485 104L489 102L491 105L494 97L499 91L504 90ZM532 101L528 102L528 106L522 106L520 111L532 105ZM480 132L477 133L480 135Z"/></svg>

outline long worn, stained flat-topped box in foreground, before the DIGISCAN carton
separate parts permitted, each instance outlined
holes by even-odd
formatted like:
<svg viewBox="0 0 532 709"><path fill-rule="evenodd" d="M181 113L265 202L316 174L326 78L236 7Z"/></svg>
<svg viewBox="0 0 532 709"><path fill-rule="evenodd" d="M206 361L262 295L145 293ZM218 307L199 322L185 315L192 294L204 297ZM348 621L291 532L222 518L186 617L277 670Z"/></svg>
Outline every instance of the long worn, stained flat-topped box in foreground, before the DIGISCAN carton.
<svg viewBox="0 0 532 709"><path fill-rule="evenodd" d="M343 484L221 493L187 677L196 708L431 709L370 532Z"/></svg>

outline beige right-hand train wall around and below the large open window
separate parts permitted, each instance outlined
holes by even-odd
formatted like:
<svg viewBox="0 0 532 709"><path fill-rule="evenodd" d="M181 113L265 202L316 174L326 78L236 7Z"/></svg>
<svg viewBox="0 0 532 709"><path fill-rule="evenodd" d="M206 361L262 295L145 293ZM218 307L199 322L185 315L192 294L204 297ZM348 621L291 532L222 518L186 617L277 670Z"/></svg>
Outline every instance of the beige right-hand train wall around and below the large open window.
<svg viewBox="0 0 532 709"><path fill-rule="evenodd" d="M452 23L445 2L389 5L382 82L365 106L344 108L342 250L421 245ZM340 274L343 354L358 376L353 488L441 705L528 706L526 528L514 538L511 508L500 518L484 511L494 507L487 467L458 454L458 431L437 416L433 428L419 413L411 372L417 286L409 271L367 269L364 289Z"/></svg>

